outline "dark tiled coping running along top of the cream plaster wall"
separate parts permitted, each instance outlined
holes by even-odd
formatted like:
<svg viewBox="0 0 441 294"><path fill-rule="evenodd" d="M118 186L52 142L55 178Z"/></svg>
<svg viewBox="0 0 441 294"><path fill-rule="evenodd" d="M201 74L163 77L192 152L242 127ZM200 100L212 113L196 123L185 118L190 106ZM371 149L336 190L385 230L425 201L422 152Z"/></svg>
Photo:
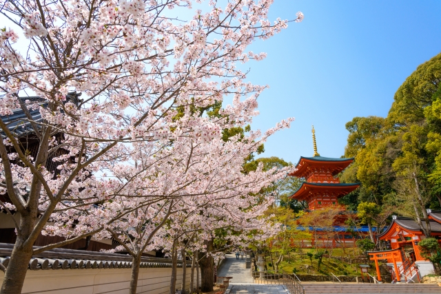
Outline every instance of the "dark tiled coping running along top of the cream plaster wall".
<svg viewBox="0 0 441 294"><path fill-rule="evenodd" d="M8 267L9 257L14 244L0 243L0 263ZM38 248L34 246L34 248ZM132 266L132 256L119 253L52 249L32 256L29 269L127 269ZM187 264L187 267L192 266ZM172 267L167 258L141 258L141 268ZM178 267L182 262L178 261Z"/></svg>

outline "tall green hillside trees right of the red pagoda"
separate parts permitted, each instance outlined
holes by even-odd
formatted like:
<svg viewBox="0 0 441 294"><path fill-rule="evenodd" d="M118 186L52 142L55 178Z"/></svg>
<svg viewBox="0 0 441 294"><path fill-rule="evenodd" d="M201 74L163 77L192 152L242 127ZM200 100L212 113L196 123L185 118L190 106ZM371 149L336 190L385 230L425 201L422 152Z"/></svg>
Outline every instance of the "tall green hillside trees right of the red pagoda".
<svg viewBox="0 0 441 294"><path fill-rule="evenodd" d="M423 224L426 209L441 207L441 54L418 66L393 97L386 118L355 117L345 157L354 162L339 175L342 182L360 182L360 189L339 202L356 210L373 202L371 225L387 225L392 213Z"/></svg>

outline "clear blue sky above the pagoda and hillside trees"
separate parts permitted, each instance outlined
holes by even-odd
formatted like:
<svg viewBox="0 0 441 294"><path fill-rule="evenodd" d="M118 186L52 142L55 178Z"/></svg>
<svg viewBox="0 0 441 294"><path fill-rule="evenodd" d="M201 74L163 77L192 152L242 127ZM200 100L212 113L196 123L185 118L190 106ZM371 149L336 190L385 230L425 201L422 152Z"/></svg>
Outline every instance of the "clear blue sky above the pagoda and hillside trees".
<svg viewBox="0 0 441 294"><path fill-rule="evenodd" d="M247 63L248 80L268 84L259 97L253 129L266 130L294 116L291 129L274 135L263 156L296 163L318 153L340 157L355 116L387 116L393 95L416 67L441 52L441 1L275 0L270 19L302 23L252 45L267 52Z"/></svg>

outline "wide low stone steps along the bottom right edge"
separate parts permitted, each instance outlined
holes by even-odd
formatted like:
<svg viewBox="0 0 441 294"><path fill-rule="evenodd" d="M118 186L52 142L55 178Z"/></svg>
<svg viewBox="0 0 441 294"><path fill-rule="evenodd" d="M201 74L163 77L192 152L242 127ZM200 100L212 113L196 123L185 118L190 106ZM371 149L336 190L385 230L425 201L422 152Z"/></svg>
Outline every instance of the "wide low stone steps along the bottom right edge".
<svg viewBox="0 0 441 294"><path fill-rule="evenodd" d="M438 284L302 283L305 294L330 293L441 293Z"/></svg>

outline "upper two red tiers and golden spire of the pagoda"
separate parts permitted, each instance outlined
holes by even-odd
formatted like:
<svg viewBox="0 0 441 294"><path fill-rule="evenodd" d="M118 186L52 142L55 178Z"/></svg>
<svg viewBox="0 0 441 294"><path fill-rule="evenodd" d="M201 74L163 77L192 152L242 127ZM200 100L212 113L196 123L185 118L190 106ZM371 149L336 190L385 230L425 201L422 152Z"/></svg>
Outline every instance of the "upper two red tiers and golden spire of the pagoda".
<svg viewBox="0 0 441 294"><path fill-rule="evenodd" d="M346 169L353 158L327 158L317 152L316 132L312 127L314 144L313 157L300 157L296 171L289 176L304 178L300 188L290 198L306 201L309 210L319 209L327 205L336 205L338 198L357 189L359 184L341 183L336 175Z"/></svg>

